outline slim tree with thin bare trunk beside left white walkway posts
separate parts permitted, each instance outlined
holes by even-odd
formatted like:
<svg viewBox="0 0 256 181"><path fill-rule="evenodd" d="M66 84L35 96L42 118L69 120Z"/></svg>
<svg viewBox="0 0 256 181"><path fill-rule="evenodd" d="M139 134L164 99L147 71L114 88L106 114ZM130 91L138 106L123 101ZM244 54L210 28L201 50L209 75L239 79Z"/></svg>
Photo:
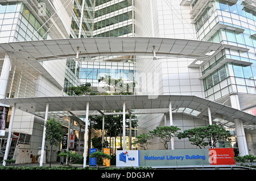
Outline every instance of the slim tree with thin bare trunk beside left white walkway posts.
<svg viewBox="0 0 256 181"><path fill-rule="evenodd" d="M49 119L46 122L46 140L51 145L51 158L49 167L51 167L51 159L52 159L52 146L58 146L59 142L63 140L63 129L61 128L62 125L55 121L55 119Z"/></svg>

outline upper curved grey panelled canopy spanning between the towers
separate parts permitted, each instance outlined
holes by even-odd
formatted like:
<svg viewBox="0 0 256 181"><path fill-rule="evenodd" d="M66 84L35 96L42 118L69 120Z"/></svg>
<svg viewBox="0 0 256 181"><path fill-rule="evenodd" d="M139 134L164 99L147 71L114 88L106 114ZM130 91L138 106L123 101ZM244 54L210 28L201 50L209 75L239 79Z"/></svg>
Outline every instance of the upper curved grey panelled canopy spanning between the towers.
<svg viewBox="0 0 256 181"><path fill-rule="evenodd" d="M143 55L152 56L155 46L156 56L171 57L205 57L210 51L221 47L219 43L208 41L167 39L160 37L92 37L81 39L56 39L39 41L22 41L0 44L2 56L5 51L14 52L13 58L30 61L47 61L79 56L116 56Z"/></svg>

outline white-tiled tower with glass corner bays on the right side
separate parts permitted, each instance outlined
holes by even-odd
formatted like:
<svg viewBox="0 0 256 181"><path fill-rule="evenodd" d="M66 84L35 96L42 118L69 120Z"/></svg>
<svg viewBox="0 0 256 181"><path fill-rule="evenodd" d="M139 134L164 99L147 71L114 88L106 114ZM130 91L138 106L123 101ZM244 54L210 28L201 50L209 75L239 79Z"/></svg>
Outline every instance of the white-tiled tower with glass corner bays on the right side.
<svg viewBox="0 0 256 181"><path fill-rule="evenodd" d="M141 73L141 76L145 77L143 73L152 73L151 77L146 76L148 83L144 85L159 88L147 89L146 92L138 94L195 95L242 111L255 108L256 16L253 1L145 0L135 1L134 6L135 36L168 37L174 39L170 41L177 43L190 39L222 44L220 51L209 52L210 57L205 60L195 60L192 57L158 57L156 60L144 57L143 60L143 57L140 57L136 60L136 71L139 75ZM177 53L183 53L186 47L180 45L175 48ZM158 85L151 81L155 78L154 74L159 77L156 79ZM149 83L152 83L152 86ZM181 129L209 124L203 119L204 115L192 115L193 110L175 105L173 109L174 125ZM139 119L139 124L147 123L147 127L138 128L138 134L156 126L163 126L164 120L168 123L169 118L168 114L157 114L142 115ZM214 118L213 123L225 125L232 130L237 128L237 124L242 124L239 120L228 123L224 116ZM149 124L151 126L148 126ZM242 128L245 128L249 153L255 154L252 144L255 132L247 125ZM236 150L240 146L236 145L237 140L233 141ZM191 148L187 142L175 142L175 149ZM247 149L245 153L248 153Z"/></svg>

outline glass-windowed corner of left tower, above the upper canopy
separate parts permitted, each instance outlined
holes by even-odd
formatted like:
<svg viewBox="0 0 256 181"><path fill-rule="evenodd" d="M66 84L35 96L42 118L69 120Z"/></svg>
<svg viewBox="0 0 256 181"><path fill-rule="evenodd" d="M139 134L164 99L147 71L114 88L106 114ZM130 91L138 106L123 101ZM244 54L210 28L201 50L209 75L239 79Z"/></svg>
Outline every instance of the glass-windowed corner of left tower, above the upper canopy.
<svg viewBox="0 0 256 181"><path fill-rule="evenodd" d="M23 2L0 3L1 42L47 39L41 26Z"/></svg>

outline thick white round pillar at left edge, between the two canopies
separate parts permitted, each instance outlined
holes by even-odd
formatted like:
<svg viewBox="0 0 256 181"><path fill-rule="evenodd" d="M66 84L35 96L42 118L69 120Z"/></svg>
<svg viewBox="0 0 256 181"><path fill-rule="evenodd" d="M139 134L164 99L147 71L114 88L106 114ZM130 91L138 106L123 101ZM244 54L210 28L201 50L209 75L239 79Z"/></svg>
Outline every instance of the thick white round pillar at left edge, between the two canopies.
<svg viewBox="0 0 256 181"><path fill-rule="evenodd" d="M13 53L8 52L5 54L5 60L3 61L3 68L1 71L0 77L0 99L5 99L8 81L9 81L9 74L11 70L11 55Z"/></svg>

